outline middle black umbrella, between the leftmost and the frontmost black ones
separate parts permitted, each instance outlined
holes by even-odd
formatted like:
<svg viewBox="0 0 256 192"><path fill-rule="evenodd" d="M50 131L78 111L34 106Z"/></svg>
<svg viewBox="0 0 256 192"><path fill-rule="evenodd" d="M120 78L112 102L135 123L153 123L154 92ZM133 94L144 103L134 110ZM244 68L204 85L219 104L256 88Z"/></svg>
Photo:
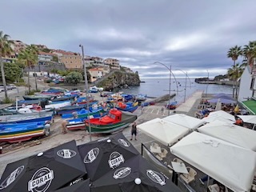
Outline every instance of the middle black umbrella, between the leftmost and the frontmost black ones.
<svg viewBox="0 0 256 192"><path fill-rule="evenodd" d="M110 170L122 166L128 159L139 155L138 150L128 142L122 133L83 144L78 146L78 150L91 181L101 178Z"/></svg>

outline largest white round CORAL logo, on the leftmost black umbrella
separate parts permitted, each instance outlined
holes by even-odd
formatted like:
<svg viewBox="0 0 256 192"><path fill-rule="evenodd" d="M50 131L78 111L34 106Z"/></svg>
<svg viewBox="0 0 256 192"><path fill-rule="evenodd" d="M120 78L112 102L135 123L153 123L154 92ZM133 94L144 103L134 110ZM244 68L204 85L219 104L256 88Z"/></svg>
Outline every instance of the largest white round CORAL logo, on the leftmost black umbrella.
<svg viewBox="0 0 256 192"><path fill-rule="evenodd" d="M54 179L54 171L47 167L37 170L28 182L28 190L32 192L45 192Z"/></svg>

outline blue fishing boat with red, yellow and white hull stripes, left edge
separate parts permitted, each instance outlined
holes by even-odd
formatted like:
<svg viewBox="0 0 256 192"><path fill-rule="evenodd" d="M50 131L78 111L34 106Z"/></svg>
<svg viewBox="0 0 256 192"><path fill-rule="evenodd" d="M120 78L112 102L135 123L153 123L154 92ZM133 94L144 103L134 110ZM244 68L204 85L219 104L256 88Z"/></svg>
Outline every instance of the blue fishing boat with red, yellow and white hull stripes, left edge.
<svg viewBox="0 0 256 192"><path fill-rule="evenodd" d="M45 124L45 122L0 125L0 142L23 142L48 134L50 134L50 124Z"/></svg>

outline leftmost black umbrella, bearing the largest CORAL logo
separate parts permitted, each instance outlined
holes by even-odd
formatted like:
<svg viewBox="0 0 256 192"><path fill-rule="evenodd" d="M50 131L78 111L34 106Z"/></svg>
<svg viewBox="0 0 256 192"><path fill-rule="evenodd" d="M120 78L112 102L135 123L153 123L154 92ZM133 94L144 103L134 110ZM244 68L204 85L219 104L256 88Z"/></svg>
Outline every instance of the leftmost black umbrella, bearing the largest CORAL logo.
<svg viewBox="0 0 256 192"><path fill-rule="evenodd" d="M72 141L8 164L0 180L0 191L46 192L83 178L86 168Z"/></svg>

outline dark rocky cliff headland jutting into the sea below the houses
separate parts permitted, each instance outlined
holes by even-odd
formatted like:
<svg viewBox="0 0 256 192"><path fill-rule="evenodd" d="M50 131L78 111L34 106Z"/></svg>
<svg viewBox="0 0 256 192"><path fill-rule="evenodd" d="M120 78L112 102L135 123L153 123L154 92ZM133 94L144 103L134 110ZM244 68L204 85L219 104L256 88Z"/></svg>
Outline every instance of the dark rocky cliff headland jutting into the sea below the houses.
<svg viewBox="0 0 256 192"><path fill-rule="evenodd" d="M97 83L97 86L102 86L104 90L114 90L114 88L123 88L128 86L139 86L139 76L137 73L126 73L123 71L114 71L106 79Z"/></svg>

